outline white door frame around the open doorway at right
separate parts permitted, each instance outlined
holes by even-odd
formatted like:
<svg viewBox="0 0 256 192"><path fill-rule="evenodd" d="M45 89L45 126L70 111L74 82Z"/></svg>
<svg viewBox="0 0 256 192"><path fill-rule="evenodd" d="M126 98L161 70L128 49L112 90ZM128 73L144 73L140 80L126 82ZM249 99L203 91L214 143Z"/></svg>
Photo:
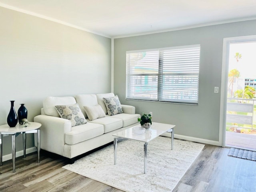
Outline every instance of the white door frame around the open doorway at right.
<svg viewBox="0 0 256 192"><path fill-rule="evenodd" d="M228 87L228 64L229 64L229 46L230 43L255 41L256 35L238 36L223 39L222 52L222 74L220 87L220 130L219 144L226 147L226 108L227 108L227 87Z"/></svg>

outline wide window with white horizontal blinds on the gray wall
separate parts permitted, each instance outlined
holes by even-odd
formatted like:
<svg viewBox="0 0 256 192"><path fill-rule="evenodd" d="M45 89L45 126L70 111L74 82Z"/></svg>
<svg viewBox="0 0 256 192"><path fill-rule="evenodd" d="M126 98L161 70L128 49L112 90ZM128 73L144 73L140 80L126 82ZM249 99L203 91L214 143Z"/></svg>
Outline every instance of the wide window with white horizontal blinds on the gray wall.
<svg viewBox="0 0 256 192"><path fill-rule="evenodd" d="M198 104L199 60L200 45L126 52L126 98Z"/></svg>

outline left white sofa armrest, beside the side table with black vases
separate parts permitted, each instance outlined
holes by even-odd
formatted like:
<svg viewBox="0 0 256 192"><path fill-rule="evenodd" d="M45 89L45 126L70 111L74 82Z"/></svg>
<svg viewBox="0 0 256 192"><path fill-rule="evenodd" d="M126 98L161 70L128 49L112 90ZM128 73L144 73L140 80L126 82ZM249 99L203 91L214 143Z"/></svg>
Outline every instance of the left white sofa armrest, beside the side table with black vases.
<svg viewBox="0 0 256 192"><path fill-rule="evenodd" d="M59 117L38 115L34 122L41 123L41 148L64 156L65 133L71 131L71 122ZM36 144L36 138L35 138Z"/></svg>

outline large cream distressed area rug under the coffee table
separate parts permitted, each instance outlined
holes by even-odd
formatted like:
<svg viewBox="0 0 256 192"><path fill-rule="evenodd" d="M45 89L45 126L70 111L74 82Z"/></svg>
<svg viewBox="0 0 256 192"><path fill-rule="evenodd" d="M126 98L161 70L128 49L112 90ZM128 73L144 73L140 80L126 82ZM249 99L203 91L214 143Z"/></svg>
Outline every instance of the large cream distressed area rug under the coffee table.
<svg viewBox="0 0 256 192"><path fill-rule="evenodd" d="M144 143L124 140L76 160L63 168L126 192L171 192L186 173L203 144L157 137L148 143L147 173L144 174Z"/></svg>

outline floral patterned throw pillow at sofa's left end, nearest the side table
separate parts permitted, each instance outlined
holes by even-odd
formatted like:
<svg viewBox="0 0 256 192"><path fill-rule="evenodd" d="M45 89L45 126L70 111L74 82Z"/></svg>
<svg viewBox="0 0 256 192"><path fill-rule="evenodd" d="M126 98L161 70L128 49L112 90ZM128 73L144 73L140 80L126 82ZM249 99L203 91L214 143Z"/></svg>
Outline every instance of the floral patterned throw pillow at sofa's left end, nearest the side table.
<svg viewBox="0 0 256 192"><path fill-rule="evenodd" d="M56 105L55 108L57 109L61 118L71 121L72 127L76 125L82 125L87 122L78 104Z"/></svg>

